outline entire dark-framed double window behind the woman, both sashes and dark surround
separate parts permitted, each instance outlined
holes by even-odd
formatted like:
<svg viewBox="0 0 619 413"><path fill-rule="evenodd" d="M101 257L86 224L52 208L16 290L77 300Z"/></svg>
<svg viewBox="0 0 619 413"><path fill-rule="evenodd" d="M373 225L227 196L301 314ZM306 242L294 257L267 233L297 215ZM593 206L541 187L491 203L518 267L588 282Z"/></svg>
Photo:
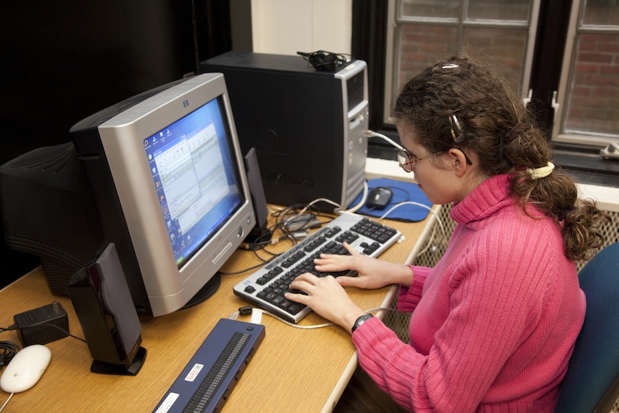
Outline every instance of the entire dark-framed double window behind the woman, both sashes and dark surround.
<svg viewBox="0 0 619 413"><path fill-rule="evenodd" d="M619 0L354 0L352 53L368 63L369 127L398 141L389 108L422 67L465 50L506 68L553 140L553 159L583 182L619 187ZM475 56L475 54L473 54ZM485 56L484 56L485 55ZM369 140L368 155L395 149Z"/></svg>

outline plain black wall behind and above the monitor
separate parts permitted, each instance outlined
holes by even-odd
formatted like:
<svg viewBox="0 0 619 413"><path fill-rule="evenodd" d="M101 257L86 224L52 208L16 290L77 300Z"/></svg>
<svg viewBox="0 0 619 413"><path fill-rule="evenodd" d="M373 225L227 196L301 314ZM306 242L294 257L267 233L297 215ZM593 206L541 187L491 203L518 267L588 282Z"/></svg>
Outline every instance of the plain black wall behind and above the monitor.
<svg viewBox="0 0 619 413"><path fill-rule="evenodd" d="M2 1L0 165L67 142L78 120L195 73L199 61L230 50L227 3ZM0 286L38 264L9 251L3 239Z"/></svg>

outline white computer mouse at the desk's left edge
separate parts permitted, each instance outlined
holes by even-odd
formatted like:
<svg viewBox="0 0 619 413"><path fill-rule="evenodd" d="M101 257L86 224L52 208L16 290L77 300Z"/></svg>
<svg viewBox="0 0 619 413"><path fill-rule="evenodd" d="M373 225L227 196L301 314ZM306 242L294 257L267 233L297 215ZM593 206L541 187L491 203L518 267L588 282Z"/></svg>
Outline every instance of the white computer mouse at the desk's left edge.
<svg viewBox="0 0 619 413"><path fill-rule="evenodd" d="M24 347L11 359L0 377L0 388L19 393L32 388L50 364L52 352L41 344Z"/></svg>

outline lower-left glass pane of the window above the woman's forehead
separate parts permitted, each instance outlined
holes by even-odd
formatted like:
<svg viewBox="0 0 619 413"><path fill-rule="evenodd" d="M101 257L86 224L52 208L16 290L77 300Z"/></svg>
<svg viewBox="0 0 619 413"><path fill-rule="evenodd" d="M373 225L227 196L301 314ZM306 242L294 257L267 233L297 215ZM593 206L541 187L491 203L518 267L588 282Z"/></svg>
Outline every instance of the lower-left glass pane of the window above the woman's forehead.
<svg viewBox="0 0 619 413"><path fill-rule="evenodd" d="M400 62L393 92L413 75L440 59L455 54L457 28L444 25L402 25L400 29Z"/></svg>

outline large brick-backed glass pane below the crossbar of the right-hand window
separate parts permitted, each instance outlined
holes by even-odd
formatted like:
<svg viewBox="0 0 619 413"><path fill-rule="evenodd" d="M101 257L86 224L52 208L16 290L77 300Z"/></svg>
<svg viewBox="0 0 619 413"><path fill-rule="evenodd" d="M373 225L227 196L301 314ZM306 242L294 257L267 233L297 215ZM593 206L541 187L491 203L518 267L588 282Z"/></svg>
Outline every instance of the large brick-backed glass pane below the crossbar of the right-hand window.
<svg viewBox="0 0 619 413"><path fill-rule="evenodd" d="M619 134L619 35L580 34L565 132Z"/></svg>

